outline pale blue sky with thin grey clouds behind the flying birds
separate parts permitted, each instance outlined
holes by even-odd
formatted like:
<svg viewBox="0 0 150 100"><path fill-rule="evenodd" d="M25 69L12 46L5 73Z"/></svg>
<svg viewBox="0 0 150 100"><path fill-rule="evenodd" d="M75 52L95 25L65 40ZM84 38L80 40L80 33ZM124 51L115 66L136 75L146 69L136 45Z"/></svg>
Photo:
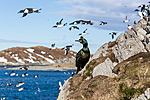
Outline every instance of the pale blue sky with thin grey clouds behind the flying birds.
<svg viewBox="0 0 150 100"><path fill-rule="evenodd" d="M74 44L71 50L78 52L82 45L75 43L79 33L86 28L89 34L89 48L94 54L100 46L109 41L115 41L117 36L127 30L127 24L133 25L140 17L135 9L141 4L148 4L147 0L1 0L0 3L0 50L11 47L50 47L52 43L57 48ZM41 13L28 14L22 18L19 10L36 8ZM125 16L130 22L123 23ZM63 18L67 23L60 29L52 28ZM78 25L80 30L69 31L69 23L75 20L91 20L94 25ZM101 21L108 24L100 26ZM111 39L110 32L118 32L115 39ZM66 38L63 39L62 37Z"/></svg>

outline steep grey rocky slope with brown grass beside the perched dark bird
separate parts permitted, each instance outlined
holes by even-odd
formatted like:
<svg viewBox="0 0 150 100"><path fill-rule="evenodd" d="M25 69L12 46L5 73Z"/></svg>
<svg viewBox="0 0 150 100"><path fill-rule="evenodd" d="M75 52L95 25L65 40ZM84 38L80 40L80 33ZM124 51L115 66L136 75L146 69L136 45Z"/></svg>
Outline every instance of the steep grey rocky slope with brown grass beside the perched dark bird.
<svg viewBox="0 0 150 100"><path fill-rule="evenodd" d="M116 41L105 43L79 74L69 78L58 100L150 99L150 17Z"/></svg>

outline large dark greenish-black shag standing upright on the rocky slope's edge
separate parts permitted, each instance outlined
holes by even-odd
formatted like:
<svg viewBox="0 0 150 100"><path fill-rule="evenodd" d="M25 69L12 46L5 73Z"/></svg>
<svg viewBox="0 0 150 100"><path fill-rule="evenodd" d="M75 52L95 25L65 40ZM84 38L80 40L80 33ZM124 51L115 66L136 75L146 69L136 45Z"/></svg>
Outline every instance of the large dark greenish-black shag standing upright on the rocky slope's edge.
<svg viewBox="0 0 150 100"><path fill-rule="evenodd" d="M90 58L90 50L88 48L88 42L82 36L79 40L75 40L76 42L80 42L83 44L83 48L77 53L76 55L76 67L77 71L76 74L84 68L86 63L89 61Z"/></svg>

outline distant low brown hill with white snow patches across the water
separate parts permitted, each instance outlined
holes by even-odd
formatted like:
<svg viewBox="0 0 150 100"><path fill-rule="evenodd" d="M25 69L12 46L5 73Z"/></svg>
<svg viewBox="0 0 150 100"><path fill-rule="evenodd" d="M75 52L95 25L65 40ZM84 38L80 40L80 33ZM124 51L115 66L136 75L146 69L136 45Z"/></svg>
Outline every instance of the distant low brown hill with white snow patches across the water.
<svg viewBox="0 0 150 100"><path fill-rule="evenodd" d="M65 56L65 50L49 49L43 46L13 47L0 51L1 65L47 65L54 63L70 63L75 61L76 52L69 51Z"/></svg>

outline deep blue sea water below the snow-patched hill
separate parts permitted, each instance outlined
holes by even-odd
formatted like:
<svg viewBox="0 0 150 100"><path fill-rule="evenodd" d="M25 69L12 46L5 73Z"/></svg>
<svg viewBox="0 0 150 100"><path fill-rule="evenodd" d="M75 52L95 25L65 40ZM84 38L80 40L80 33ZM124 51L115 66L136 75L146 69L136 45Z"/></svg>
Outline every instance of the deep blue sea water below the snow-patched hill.
<svg viewBox="0 0 150 100"><path fill-rule="evenodd" d="M12 70L0 68L0 98L4 100L56 100L60 90L59 81L64 83L71 77L73 71L26 71L15 70L18 76L9 76ZM26 77L19 77L27 72ZM39 77L33 78L34 75ZM25 82L20 87L15 87L18 82ZM12 83L11 86L6 85ZM18 91L19 88L24 88Z"/></svg>

